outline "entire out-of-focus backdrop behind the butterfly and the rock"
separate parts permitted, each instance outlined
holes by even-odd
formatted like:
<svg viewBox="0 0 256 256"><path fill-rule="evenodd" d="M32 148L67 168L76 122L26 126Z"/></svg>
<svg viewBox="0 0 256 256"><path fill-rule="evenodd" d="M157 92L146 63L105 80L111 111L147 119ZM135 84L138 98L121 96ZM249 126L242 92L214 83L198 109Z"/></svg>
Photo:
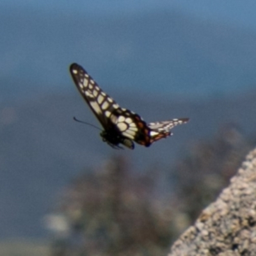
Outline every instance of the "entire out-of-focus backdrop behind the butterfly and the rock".
<svg viewBox="0 0 256 256"><path fill-rule="evenodd" d="M255 1L0 3L0 254L166 255L256 134ZM82 65L148 122L189 117L150 148L113 150L77 92Z"/></svg>

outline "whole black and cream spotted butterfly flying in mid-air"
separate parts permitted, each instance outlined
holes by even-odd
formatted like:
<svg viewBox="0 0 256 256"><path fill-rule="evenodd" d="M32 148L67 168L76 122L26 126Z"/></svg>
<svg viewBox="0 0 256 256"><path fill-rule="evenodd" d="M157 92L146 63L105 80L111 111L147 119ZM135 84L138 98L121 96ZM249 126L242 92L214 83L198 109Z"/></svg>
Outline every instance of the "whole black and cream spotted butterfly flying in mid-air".
<svg viewBox="0 0 256 256"><path fill-rule="evenodd" d="M172 136L170 131L179 124L185 124L189 118L175 118L170 121L147 124L140 115L121 108L115 100L104 93L93 78L80 65L70 65L70 74L77 89L92 109L104 128L100 132L102 140L113 148L134 148L134 143L149 147L162 138Z"/></svg>

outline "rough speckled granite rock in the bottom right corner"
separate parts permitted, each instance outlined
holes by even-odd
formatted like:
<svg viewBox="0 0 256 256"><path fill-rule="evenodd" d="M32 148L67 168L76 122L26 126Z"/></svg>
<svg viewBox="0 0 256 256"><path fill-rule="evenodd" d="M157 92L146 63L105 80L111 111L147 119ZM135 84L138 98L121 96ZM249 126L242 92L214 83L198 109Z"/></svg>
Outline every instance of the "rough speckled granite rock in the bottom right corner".
<svg viewBox="0 0 256 256"><path fill-rule="evenodd" d="M256 148L168 256L256 256Z"/></svg>

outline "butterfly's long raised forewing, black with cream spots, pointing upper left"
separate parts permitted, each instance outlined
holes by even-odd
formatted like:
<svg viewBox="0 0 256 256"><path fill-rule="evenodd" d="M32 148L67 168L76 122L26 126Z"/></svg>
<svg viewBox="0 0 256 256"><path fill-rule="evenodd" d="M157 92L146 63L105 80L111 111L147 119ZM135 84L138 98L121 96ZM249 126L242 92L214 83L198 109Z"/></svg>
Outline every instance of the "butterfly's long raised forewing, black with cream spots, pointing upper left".
<svg viewBox="0 0 256 256"><path fill-rule="evenodd" d="M70 65L70 74L77 89L92 109L104 129L108 129L111 113L120 108L109 95L104 93L93 78L80 65Z"/></svg>

